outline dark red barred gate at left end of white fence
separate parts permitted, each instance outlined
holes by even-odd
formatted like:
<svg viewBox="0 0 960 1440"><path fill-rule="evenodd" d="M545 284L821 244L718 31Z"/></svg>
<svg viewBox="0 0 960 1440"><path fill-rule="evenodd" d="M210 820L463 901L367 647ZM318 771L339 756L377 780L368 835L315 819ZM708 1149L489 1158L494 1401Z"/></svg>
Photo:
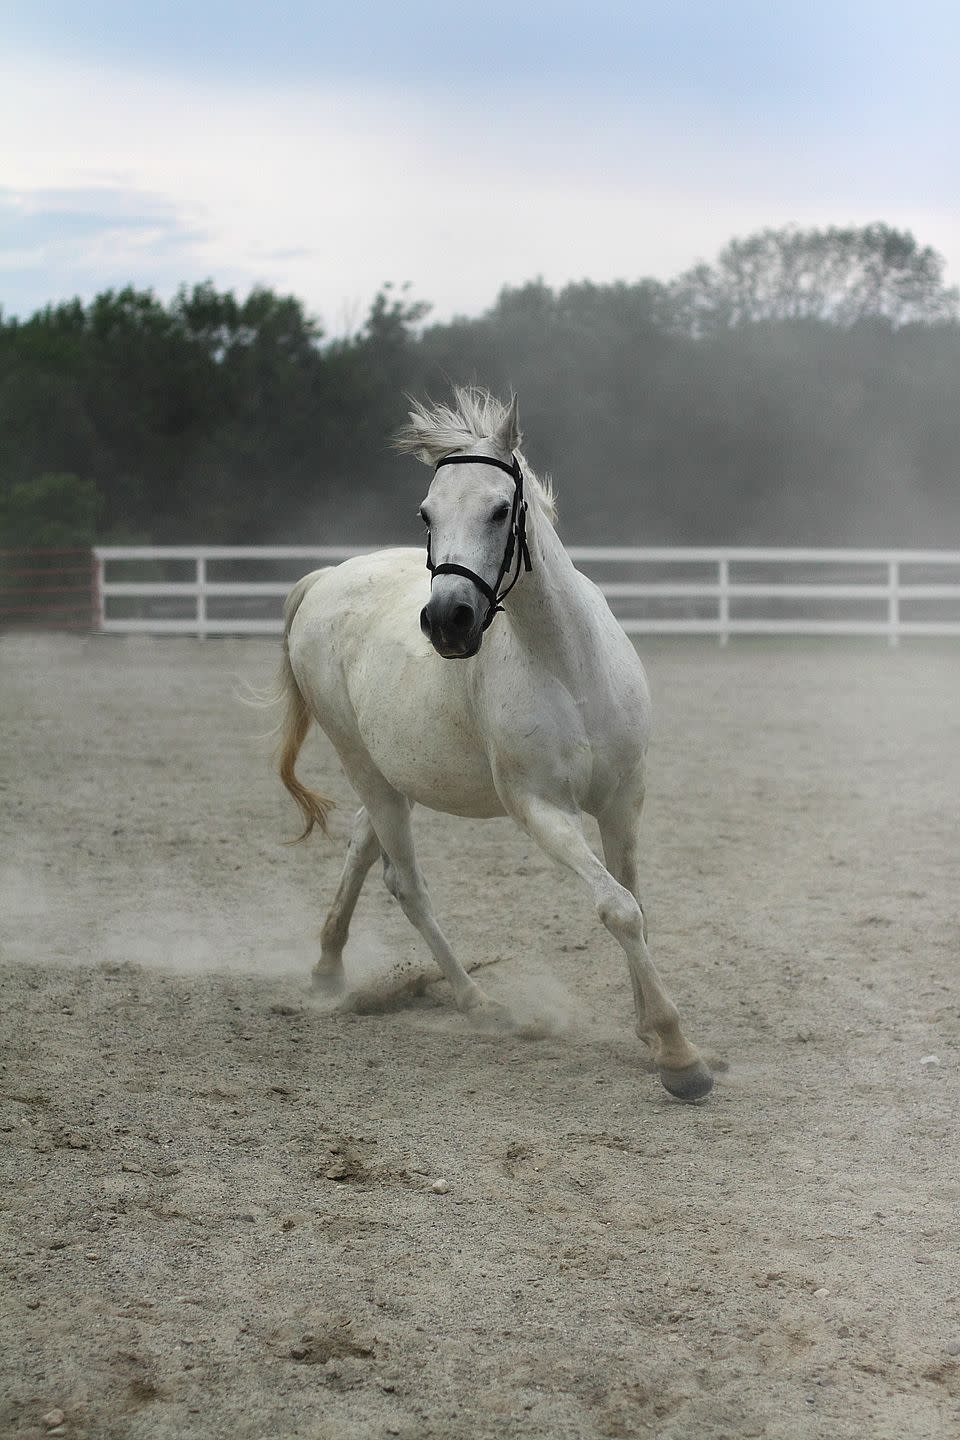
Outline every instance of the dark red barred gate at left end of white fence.
<svg viewBox="0 0 960 1440"><path fill-rule="evenodd" d="M91 550L0 550L0 629L95 629Z"/></svg>

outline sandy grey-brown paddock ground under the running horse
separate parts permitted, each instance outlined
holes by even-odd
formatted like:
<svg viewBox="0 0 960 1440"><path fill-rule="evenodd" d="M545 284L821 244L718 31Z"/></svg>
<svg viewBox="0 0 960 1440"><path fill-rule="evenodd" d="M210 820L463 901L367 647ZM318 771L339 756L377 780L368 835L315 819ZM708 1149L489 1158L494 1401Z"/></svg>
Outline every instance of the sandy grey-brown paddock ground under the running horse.
<svg viewBox="0 0 960 1440"><path fill-rule="evenodd" d="M0 642L0 1434L960 1433L960 652L645 652L695 1107L505 821L420 854L544 1038L311 1001L351 801L311 740L335 838L282 847L272 647ZM376 873L354 935L366 995L427 969Z"/></svg>

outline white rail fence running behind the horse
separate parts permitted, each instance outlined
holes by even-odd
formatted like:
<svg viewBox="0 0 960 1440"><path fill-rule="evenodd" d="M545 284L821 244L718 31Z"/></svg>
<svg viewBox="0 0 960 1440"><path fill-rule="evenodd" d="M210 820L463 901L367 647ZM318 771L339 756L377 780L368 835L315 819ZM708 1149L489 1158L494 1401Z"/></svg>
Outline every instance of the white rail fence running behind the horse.
<svg viewBox="0 0 960 1440"><path fill-rule="evenodd" d="M373 549L99 547L96 621L107 632L276 635L294 580ZM891 645L905 635L960 638L960 550L570 546L569 553L629 634L715 635L721 645L731 635L878 635Z"/></svg>

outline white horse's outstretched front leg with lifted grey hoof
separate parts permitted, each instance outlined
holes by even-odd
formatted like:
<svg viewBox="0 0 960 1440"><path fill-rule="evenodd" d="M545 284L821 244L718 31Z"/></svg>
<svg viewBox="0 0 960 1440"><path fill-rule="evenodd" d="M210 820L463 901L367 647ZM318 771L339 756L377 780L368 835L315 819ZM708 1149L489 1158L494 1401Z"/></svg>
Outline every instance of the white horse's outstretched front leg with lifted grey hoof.
<svg viewBox="0 0 960 1440"><path fill-rule="evenodd" d="M701 1100L714 1077L699 1051L687 1040L679 1011L664 989L646 948L643 912L626 886L615 880L587 845L580 814L537 795L504 793L507 809L541 850L566 865L587 886L597 914L623 949L630 978L642 1001L642 1024L653 1037L661 1081L681 1100Z"/></svg>

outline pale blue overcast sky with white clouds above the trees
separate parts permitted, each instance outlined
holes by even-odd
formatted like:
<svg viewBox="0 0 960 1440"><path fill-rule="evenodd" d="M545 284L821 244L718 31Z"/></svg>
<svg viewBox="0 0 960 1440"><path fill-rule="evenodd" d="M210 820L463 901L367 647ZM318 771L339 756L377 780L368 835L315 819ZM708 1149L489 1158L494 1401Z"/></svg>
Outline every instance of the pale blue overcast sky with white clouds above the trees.
<svg viewBox="0 0 960 1440"><path fill-rule="evenodd" d="M959 55L946 0L4 0L0 305L210 278L340 333L878 219L956 284Z"/></svg>

